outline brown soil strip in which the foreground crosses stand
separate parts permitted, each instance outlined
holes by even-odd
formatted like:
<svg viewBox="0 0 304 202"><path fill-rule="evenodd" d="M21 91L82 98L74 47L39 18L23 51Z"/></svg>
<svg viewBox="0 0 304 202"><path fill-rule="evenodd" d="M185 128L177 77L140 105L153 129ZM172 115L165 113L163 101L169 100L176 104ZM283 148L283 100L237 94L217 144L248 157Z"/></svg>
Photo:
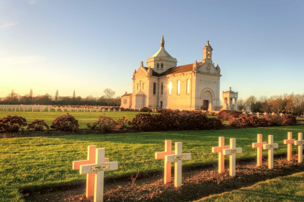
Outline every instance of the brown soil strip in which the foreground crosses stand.
<svg viewBox="0 0 304 202"><path fill-rule="evenodd" d="M274 169L268 169L268 163L264 159L262 167L254 164L256 161L237 164L236 177L229 176L229 169L219 174L217 167L201 168L183 171L183 187L174 188L174 179L166 185L163 184L163 174L140 178L132 186L130 179L120 182L105 183L104 201L191 201L210 194L219 194L225 191L239 189L274 177L290 175L301 172L303 163L297 163L297 155L293 155L292 161L286 158L276 158ZM238 161L240 162L240 161ZM226 165L228 167L228 165ZM174 171L172 171L172 174ZM60 189L60 191L24 193L27 201L93 201L93 197L85 197L85 184L80 184L72 189Z"/></svg>

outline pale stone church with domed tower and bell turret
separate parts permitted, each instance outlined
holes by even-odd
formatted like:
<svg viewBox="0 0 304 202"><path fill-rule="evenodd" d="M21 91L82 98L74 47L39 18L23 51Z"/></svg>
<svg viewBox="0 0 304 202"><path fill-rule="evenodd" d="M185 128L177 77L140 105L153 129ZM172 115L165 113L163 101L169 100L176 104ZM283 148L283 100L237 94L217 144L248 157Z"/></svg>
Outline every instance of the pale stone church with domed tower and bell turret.
<svg viewBox="0 0 304 202"><path fill-rule="evenodd" d="M164 36L160 49L150 58L147 65L140 63L133 72L132 93L121 98L123 108L208 110L219 109L219 65L212 62L212 47L207 41L203 48L202 61L188 65L177 65L165 50Z"/></svg>

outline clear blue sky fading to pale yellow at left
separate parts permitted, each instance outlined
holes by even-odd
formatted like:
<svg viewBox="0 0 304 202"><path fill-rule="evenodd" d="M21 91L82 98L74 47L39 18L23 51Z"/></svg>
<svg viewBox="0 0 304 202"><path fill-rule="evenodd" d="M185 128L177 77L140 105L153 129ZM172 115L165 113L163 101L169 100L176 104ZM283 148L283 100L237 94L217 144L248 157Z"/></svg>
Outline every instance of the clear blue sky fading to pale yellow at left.
<svg viewBox="0 0 304 202"><path fill-rule="evenodd" d="M209 40L229 87L249 95L304 93L304 1L0 1L0 97L100 97L131 92L160 47L178 65Z"/></svg>

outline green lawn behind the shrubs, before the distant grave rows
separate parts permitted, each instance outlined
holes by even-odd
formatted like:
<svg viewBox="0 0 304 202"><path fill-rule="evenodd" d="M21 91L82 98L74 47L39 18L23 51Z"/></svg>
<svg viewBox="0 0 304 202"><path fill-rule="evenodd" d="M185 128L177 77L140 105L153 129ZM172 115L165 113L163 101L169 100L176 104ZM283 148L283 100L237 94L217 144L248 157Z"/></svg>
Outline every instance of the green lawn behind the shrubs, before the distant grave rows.
<svg viewBox="0 0 304 202"><path fill-rule="evenodd" d="M108 112L107 110L105 110L104 112L99 111L99 112L75 112L75 111L71 111L71 112L67 112L67 111L60 111L57 110L57 112L54 111L54 109L52 109L50 112L48 111L0 111L0 118L2 117L6 117L7 115L18 115L18 116L22 116L23 118L26 118L27 123L31 123L32 121L34 121L35 119L38 120L44 120L49 126L52 124L54 118L56 118L57 116L61 116L61 115L65 115L69 113L70 115L74 116L77 120L78 120L78 124L79 124L79 128L80 129L88 129L87 124L92 124L94 122L96 122L98 120L99 116L108 116L110 118L122 118L123 116L126 117L126 119L128 120L132 120L136 114L139 113L147 113L147 112L139 112L139 111L110 111ZM157 112L151 112L151 114L157 114ZM217 116L207 116L209 118L211 117L217 117ZM26 127L25 127L26 128Z"/></svg>

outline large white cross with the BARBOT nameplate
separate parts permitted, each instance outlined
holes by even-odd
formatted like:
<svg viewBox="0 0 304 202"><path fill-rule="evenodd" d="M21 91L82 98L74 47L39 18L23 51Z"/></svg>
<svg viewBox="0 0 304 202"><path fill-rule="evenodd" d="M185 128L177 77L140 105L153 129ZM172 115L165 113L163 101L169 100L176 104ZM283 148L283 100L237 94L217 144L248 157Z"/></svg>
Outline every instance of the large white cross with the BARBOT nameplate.
<svg viewBox="0 0 304 202"><path fill-rule="evenodd" d="M109 162L107 159L105 159L105 149L104 148L95 149L95 163L91 163L92 162L91 159L88 159L87 161L89 161L88 164L80 164L79 173L80 174L94 174L94 202L102 202L103 201L104 171L117 170L118 162L117 161ZM74 164L74 162L75 161L73 161L73 164ZM88 175L87 175L87 179L88 179ZM91 180L91 183L92 183L92 180ZM88 182L87 182L87 185L88 185ZM90 188L92 189L92 185L90 186ZM91 192L91 190L90 190L90 192Z"/></svg>

